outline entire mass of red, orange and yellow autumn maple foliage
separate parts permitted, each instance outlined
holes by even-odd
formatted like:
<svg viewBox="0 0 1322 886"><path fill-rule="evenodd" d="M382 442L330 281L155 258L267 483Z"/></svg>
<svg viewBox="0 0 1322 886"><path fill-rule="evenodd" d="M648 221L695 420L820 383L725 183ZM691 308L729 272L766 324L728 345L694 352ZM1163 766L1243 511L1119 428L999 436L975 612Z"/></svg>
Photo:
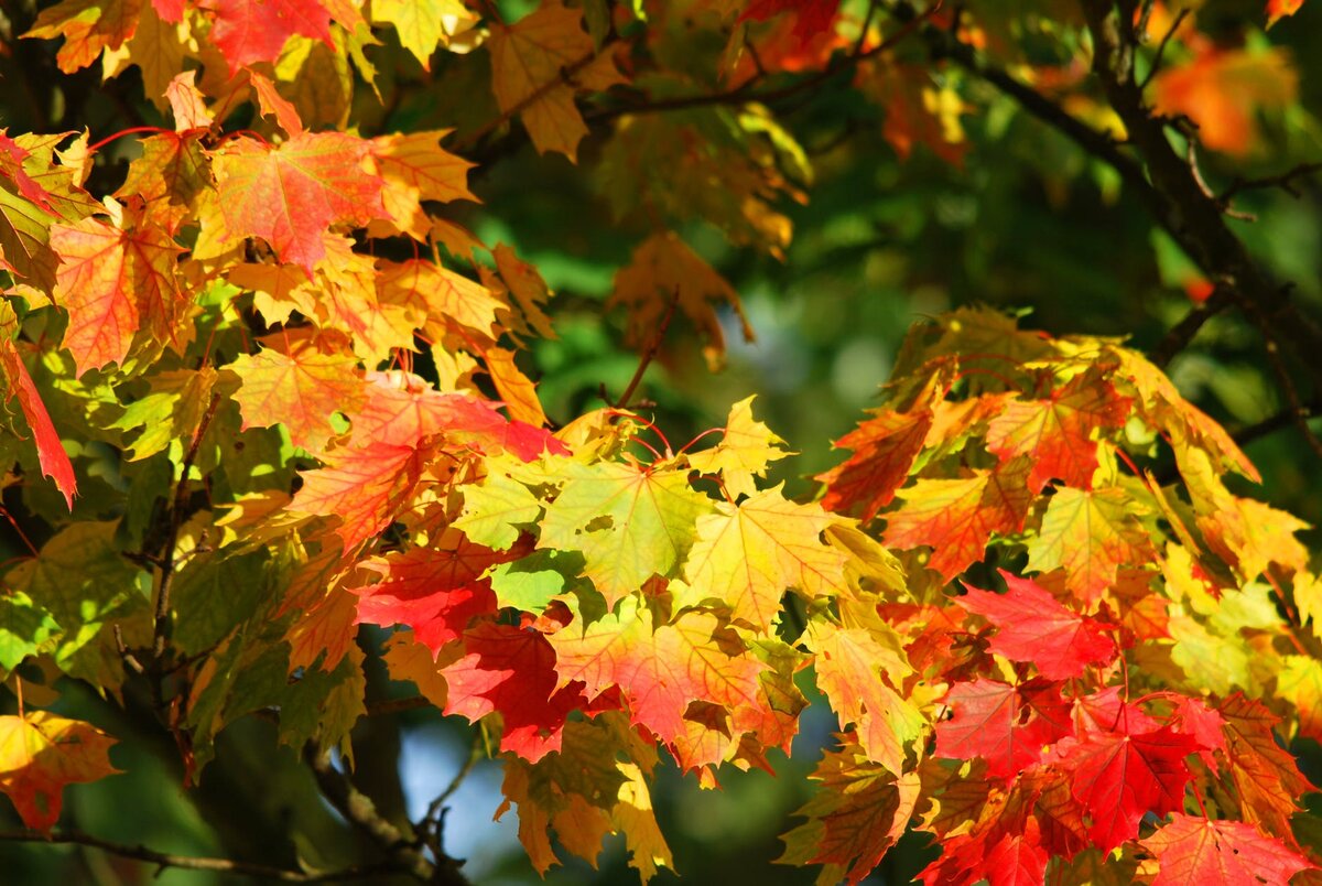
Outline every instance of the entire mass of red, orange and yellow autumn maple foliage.
<svg viewBox="0 0 1322 886"><path fill-rule="evenodd" d="M370 624L394 629L369 651L393 678L498 734L541 871L553 833L595 860L623 832L642 879L673 866L649 795L660 750L705 787L723 764L771 770L809 673L841 734L784 861L824 881L859 881L911 826L943 846L928 882L1313 869L1290 826L1313 788L1277 743L1322 739L1302 524L1227 485L1252 464L1137 352L944 315L813 503L763 480L788 452L751 401L680 451L624 405L547 430L518 360L554 336L551 294L447 217L475 200L465 151L447 130L340 128L354 78L378 85L386 30L424 67L438 48L489 60L497 115L465 127L468 148L518 118L572 160L579 94L676 97L666 118L588 111L613 120L598 164L617 212L650 222L613 296L648 358L681 315L718 364L717 305L739 312L676 225L789 242L775 204L810 171L750 91L768 70L833 75L853 49L895 149L960 156L958 97L891 61L871 13L843 40L822 0L664 5L545 3L513 24L455 0L41 13L28 36L63 38L65 71L136 65L173 126L135 139L102 194L90 176L122 141L0 131L17 401L0 455L5 501L41 529L0 596L20 698L0 717L0 791L45 830L65 784L112 771L104 733L34 709L52 700L33 672L116 697L140 680L189 778L254 713L352 764ZM734 33L731 91L686 107L709 71L676 54L699 21ZM1186 42L1188 65L1241 61ZM1233 116L1179 71L1154 85L1173 112ZM1153 473L1171 460L1179 485Z"/></svg>

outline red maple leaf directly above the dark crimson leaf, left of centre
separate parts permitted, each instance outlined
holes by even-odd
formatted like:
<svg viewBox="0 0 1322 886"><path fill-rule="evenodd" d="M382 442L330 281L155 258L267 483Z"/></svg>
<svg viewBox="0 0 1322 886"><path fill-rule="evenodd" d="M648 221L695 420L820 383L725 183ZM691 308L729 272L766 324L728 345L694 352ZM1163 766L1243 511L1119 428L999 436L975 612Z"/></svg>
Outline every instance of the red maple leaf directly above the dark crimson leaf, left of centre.
<svg viewBox="0 0 1322 886"><path fill-rule="evenodd" d="M379 574L381 581L348 588L358 595L357 623L406 624L438 655L463 636L475 618L496 614L490 583L481 575L516 557L475 545L451 529L428 547L362 561L362 569Z"/></svg>

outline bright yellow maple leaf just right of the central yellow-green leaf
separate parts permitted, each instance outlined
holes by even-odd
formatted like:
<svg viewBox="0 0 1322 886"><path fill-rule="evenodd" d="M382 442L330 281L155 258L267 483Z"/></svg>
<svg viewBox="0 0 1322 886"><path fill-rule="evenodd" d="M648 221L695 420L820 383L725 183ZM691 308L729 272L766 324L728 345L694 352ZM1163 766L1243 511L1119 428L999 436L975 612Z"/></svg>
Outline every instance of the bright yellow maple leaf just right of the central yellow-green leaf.
<svg viewBox="0 0 1322 886"><path fill-rule="evenodd" d="M808 596L843 590L845 555L821 538L837 517L817 504L788 501L780 491L758 492L739 505L720 503L717 513L698 517L677 608L715 598L734 620L771 633L788 588Z"/></svg>

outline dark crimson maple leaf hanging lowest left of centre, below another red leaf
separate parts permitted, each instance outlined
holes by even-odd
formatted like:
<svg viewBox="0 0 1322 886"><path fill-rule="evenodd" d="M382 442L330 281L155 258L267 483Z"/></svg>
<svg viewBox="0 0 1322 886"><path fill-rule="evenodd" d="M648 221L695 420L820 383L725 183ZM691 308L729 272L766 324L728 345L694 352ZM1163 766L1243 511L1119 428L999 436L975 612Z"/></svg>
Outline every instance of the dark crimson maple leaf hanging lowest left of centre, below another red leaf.
<svg viewBox="0 0 1322 886"><path fill-rule="evenodd" d="M477 722L498 711L501 750L537 762L561 748L564 719L587 705L582 684L557 688L555 651L537 631L484 623L464 633L467 655L442 669L447 714Z"/></svg>

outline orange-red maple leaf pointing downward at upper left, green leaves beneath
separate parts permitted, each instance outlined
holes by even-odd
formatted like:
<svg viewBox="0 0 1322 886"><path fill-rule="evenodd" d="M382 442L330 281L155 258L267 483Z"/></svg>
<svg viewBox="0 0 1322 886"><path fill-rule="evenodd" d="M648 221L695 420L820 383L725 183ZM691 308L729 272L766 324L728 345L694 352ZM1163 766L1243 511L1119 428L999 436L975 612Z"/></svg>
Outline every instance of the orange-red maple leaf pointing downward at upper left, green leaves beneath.
<svg viewBox="0 0 1322 886"><path fill-rule="evenodd" d="M56 300L69 312L63 344L79 376L122 364L140 328L178 345L182 294L175 258L181 250L168 235L85 218L52 226L50 246L61 261Z"/></svg>

